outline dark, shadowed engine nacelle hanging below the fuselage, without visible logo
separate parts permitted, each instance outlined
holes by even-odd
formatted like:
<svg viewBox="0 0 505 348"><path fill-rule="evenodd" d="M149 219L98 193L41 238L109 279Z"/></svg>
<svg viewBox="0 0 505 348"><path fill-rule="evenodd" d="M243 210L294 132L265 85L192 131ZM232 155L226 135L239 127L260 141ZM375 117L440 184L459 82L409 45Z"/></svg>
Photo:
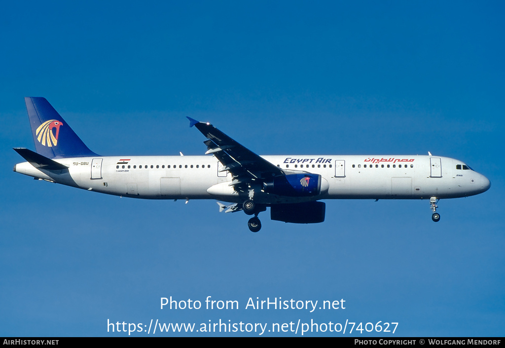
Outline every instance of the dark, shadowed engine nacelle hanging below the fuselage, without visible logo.
<svg viewBox="0 0 505 348"><path fill-rule="evenodd" d="M270 219L293 224L322 223L325 213L324 202L274 204L270 207Z"/></svg>

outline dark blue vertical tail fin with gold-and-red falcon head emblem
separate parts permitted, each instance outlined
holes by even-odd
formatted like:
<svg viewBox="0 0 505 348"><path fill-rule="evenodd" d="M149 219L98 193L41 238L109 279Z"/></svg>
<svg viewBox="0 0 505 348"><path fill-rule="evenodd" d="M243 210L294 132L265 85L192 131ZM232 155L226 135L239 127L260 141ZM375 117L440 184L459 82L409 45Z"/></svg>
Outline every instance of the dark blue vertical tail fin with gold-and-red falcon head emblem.
<svg viewBox="0 0 505 348"><path fill-rule="evenodd" d="M45 98L25 97L37 153L47 158L99 156L89 150Z"/></svg>

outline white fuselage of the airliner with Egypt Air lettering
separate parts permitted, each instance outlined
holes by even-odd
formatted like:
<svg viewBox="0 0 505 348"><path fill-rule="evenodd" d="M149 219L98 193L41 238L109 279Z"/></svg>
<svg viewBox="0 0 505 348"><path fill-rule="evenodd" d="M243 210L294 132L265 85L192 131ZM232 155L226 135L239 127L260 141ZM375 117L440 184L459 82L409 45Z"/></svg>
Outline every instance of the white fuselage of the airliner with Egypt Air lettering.
<svg viewBox="0 0 505 348"><path fill-rule="evenodd" d="M292 155L262 156L285 171L320 174L321 194L283 197L256 190L261 203L320 199L426 199L476 195L489 180L462 161L424 155ZM55 158L68 169L39 170L28 162L14 171L25 175L111 195L144 199L217 199L243 202L247 193L229 184L230 173L214 156L107 156ZM463 169L468 168L468 169ZM327 182L327 185L326 185Z"/></svg>

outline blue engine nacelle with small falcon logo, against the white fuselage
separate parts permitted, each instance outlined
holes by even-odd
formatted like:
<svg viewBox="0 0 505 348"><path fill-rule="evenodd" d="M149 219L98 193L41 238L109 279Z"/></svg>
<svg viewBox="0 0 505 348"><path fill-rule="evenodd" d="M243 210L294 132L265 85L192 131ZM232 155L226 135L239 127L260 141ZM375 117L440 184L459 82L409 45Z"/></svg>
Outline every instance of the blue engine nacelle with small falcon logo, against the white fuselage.
<svg viewBox="0 0 505 348"><path fill-rule="evenodd" d="M279 196L310 197L321 193L321 176L319 174L287 174L267 179L263 191Z"/></svg>

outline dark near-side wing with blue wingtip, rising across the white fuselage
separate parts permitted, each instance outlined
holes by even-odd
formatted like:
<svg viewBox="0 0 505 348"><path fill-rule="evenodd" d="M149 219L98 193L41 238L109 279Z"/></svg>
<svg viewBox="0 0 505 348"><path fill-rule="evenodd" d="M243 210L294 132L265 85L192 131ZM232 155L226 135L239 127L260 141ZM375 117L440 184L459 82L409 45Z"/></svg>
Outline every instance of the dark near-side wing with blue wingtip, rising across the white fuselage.
<svg viewBox="0 0 505 348"><path fill-rule="evenodd" d="M212 124L187 118L189 126L196 126L208 139L204 142L208 149L206 154L213 154L223 164L224 167L220 171L228 170L231 173L231 186L239 188L242 184L257 179L285 175L281 168L240 145Z"/></svg>

